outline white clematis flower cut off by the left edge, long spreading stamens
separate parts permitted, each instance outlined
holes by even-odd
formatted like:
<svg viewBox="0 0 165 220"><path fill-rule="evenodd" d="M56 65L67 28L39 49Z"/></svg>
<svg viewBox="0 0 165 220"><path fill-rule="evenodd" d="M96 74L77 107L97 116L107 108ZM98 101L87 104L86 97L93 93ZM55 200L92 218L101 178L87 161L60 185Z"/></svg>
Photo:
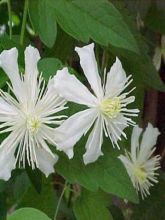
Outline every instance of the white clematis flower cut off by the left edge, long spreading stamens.
<svg viewBox="0 0 165 220"><path fill-rule="evenodd" d="M58 157L49 149L55 145L53 126L62 116L64 101L55 93L53 79L48 86L39 76L37 63L40 55L29 46L25 50L25 74L19 75L16 48L0 54L0 66L8 75L12 86L10 95L0 90L0 133L8 133L0 145L0 179L7 180L16 164L26 162L48 176L54 171Z"/></svg>

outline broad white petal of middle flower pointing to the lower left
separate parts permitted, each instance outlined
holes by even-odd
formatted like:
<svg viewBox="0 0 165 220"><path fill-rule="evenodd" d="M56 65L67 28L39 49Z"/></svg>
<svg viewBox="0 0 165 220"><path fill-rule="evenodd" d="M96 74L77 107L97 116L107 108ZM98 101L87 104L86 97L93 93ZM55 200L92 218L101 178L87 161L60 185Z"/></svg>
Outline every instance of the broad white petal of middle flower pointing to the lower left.
<svg viewBox="0 0 165 220"><path fill-rule="evenodd" d="M89 130L96 117L95 109L87 109L65 120L60 127L55 129L57 149L63 150L71 158L73 146Z"/></svg>

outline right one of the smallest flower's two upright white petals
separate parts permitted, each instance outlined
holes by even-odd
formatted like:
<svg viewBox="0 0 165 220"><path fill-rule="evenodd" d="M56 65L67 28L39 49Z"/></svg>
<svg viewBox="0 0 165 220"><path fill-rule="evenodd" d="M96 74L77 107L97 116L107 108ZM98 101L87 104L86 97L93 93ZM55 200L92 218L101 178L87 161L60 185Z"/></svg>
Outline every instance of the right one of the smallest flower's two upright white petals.
<svg viewBox="0 0 165 220"><path fill-rule="evenodd" d="M152 148L156 144L159 134L160 132L158 129L154 128L152 124L148 123L140 145L139 161L145 161L148 159L148 155L150 155Z"/></svg>

